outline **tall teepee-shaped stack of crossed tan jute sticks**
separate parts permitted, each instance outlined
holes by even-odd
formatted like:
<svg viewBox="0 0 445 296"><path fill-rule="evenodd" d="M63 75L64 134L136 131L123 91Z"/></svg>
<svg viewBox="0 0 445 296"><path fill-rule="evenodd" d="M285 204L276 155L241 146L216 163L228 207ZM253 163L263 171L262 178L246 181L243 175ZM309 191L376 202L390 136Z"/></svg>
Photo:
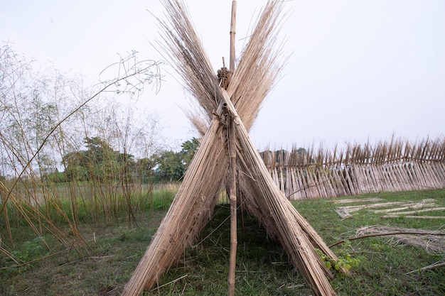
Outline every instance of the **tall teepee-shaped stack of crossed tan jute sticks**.
<svg viewBox="0 0 445 296"><path fill-rule="evenodd" d="M289 260L304 275L315 295L336 295L326 278L331 273L315 248L333 260L338 258L274 184L248 135L264 97L282 69L280 50L274 46L284 1L270 0L260 13L237 69L225 78L227 89L220 87L221 81L183 2L161 2L168 16L168 22L160 22L166 43L163 49L198 100L202 112L190 118L203 138L178 194L122 295L140 295L156 285L211 218L228 177L229 121L235 127L237 187L241 192L238 202L261 221L269 236L282 243Z"/></svg>

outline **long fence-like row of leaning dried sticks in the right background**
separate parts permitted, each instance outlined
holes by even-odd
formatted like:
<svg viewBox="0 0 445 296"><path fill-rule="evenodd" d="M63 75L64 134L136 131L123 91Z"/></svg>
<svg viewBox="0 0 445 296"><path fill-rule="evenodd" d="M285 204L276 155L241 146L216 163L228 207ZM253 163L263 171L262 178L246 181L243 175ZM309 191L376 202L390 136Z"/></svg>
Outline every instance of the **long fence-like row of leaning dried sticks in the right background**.
<svg viewBox="0 0 445 296"><path fill-rule="evenodd" d="M289 199L445 188L445 138L396 140L344 150L264 151L272 179Z"/></svg>

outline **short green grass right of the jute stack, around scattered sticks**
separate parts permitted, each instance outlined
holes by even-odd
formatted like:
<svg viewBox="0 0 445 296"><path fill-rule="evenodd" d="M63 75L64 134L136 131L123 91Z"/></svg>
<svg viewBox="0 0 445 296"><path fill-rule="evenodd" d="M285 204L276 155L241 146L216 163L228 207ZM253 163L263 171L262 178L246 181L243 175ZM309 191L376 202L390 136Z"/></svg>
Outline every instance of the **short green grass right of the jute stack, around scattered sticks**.
<svg viewBox="0 0 445 296"><path fill-rule="evenodd" d="M380 197L386 202L415 202L434 198L437 207L445 206L444 190L368 194L362 197ZM382 219L382 214L369 210L356 212L352 219L342 221L334 212L338 205L332 202L311 200L294 204L328 245L353 236L353 232L361 226L388 225L431 230L443 230L445 226L445 219ZM437 214L445 216L444 212ZM338 253L339 248L342 246L333 247L333 251ZM445 295L444 268L410 273L436 262L445 262L444 253L431 255L412 246L394 246L388 237L350 241L350 253L360 258L360 265L351 270L350 278L336 277L331 282L339 295Z"/></svg>

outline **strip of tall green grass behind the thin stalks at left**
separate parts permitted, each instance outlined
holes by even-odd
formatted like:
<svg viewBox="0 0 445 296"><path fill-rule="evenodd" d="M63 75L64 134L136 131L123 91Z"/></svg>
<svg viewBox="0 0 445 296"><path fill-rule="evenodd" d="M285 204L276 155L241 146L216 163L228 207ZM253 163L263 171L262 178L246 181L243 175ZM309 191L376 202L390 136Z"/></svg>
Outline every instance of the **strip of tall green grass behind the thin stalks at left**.
<svg viewBox="0 0 445 296"><path fill-rule="evenodd" d="M149 185L129 185L129 190L124 190L121 185L67 182L45 187L45 199L42 197L42 187L32 190L32 187L22 186L14 190L13 195L17 199L23 199L21 206L26 213L36 216L36 211L41 212L58 225L68 224L67 219L60 214L60 209L68 216L70 223L109 224L119 223L124 219L128 222L130 207L132 213L168 209L178 188L179 184L176 183L160 183L154 185L150 195ZM38 193L35 194L34 191ZM33 200L33 195L40 197L40 204L33 204L31 207L28 200ZM29 223L27 219L23 219L23 214L15 204L9 202L7 211L12 226L20 228ZM31 217L31 221L34 222L35 219ZM4 226L4 219L0 219L0 228Z"/></svg>

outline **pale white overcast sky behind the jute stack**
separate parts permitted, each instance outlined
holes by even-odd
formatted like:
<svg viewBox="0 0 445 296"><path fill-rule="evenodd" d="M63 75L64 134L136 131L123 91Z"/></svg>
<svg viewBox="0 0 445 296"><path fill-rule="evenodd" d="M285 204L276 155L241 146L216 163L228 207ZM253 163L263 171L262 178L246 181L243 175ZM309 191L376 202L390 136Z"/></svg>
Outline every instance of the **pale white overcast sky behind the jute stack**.
<svg viewBox="0 0 445 296"><path fill-rule="evenodd" d="M215 70L228 60L231 0L186 0ZM237 51L266 1L237 1ZM288 1L281 30L284 77L267 97L251 132L257 148L311 143L365 143L393 134L411 141L444 136L445 1ZM0 0L0 42L60 70L95 79L132 50L159 60L159 1ZM173 73L171 69L165 69ZM163 72L155 109L166 136L182 143L195 134L181 111L188 97Z"/></svg>

